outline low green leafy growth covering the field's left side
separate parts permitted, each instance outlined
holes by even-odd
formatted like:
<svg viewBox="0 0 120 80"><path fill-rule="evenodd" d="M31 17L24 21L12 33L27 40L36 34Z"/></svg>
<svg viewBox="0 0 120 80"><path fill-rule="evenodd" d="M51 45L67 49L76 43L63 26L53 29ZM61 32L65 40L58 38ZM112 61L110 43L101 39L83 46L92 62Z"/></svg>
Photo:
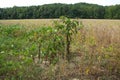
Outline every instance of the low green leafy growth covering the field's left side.
<svg viewBox="0 0 120 80"><path fill-rule="evenodd" d="M32 62L25 50L26 30L19 25L2 25L0 32L0 79L13 79L22 72L23 66Z"/></svg>

